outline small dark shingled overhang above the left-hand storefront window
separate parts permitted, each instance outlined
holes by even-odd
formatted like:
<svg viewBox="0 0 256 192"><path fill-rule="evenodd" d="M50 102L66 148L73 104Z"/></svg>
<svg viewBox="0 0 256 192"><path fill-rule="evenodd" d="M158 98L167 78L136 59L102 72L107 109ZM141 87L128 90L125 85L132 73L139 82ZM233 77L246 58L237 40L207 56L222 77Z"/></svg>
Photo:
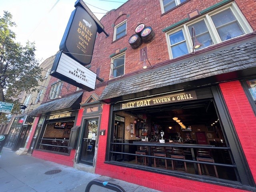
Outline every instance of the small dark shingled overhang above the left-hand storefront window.
<svg viewBox="0 0 256 192"><path fill-rule="evenodd" d="M70 96L53 100L48 103L40 105L34 109L28 116L42 116L50 115L53 113L61 113L68 110L78 110L80 108L80 102L83 92L78 92Z"/></svg>

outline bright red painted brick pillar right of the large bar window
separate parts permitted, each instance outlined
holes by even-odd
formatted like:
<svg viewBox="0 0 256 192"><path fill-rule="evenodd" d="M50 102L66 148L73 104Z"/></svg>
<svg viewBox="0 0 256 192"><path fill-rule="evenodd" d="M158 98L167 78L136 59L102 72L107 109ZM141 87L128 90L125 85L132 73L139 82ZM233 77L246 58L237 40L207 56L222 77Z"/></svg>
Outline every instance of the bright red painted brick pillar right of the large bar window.
<svg viewBox="0 0 256 192"><path fill-rule="evenodd" d="M240 144L256 181L256 117L239 81L220 84Z"/></svg>

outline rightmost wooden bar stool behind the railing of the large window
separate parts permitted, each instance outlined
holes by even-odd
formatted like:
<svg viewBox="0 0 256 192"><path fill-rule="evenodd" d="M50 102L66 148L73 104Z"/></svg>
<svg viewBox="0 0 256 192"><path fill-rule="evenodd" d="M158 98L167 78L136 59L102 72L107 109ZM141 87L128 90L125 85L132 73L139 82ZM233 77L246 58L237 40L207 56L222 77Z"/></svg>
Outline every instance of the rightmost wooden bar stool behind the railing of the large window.
<svg viewBox="0 0 256 192"><path fill-rule="evenodd" d="M197 161L203 161L203 162L211 162L211 163L214 163L214 159L210 156L210 152L209 150L205 150L205 149L198 149L197 150L197 157L196 157L196 160ZM197 164L198 165L198 172L200 175L202 175L202 170L205 170L206 172L206 175L207 176L211 176L209 174L209 171L208 171L208 168L207 168L207 165L206 164ZM201 166L202 166L202 169L201 169ZM204 166L204 167L203 167ZM204 168L204 169L203 169ZM218 172L217 172L217 169L216 169L216 166L213 165L213 168L214 168L214 171L215 171L215 176L216 178L219 178L218 176Z"/></svg>

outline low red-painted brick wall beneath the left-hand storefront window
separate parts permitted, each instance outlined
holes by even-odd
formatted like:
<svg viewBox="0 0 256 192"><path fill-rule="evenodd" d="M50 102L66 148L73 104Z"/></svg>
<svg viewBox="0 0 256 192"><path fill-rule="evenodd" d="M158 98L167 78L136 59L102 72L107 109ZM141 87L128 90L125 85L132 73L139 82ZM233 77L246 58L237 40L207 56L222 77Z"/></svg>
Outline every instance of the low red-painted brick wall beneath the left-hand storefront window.
<svg viewBox="0 0 256 192"><path fill-rule="evenodd" d="M73 167L75 153L76 153L76 150L74 150L74 149L71 150L70 156L33 150L32 156L36 157L36 158L43 159L43 160L47 160L47 161L55 162L58 164Z"/></svg>

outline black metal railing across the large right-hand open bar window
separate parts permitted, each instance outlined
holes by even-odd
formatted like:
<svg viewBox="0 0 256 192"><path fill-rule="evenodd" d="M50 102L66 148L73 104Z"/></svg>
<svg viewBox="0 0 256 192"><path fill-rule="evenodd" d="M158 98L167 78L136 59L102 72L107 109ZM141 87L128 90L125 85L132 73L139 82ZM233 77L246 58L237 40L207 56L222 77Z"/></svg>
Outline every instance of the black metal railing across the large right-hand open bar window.
<svg viewBox="0 0 256 192"><path fill-rule="evenodd" d="M119 151L115 151L114 149L116 148L116 146L119 146L118 149ZM122 146L122 147L120 147ZM148 148L147 150L147 154L146 155L142 155L142 154L135 154L135 152L126 152L124 150L120 151L120 148L124 149L124 146L128 146L128 147L138 147L138 146L146 146ZM164 147L164 148L170 148L170 147L174 147L174 148L182 148L182 149L186 149L186 150L190 150L191 152L191 158L190 159L177 159L177 158L171 158L170 156L166 156L166 157L159 157L159 156L154 156L153 155L153 148L154 147ZM127 148L127 147L126 147ZM135 142L135 144L128 144L128 143L115 143L112 142L111 143L111 147L110 147L110 159L114 160L114 156L120 154L120 155L128 155L128 156L133 156L134 158L137 157L146 157L148 158L148 165L147 166L154 166L154 164L152 165L152 160L155 159L162 159L162 160L175 160L175 161L179 161L179 162L186 162L186 163L190 163L193 164L194 166L194 172L195 174L199 174L198 172L198 165L211 165L211 166L220 166L223 168L232 168L234 170L234 173L236 172L236 165L233 163L232 157L230 156L230 148L226 147L226 146L214 146L214 145L199 145L199 144L178 144L178 143L149 143L149 142ZM205 150L210 150L213 151L213 155L211 156L214 160L220 159L221 161L214 161L214 162L207 162L207 161L199 161L197 160L197 150L198 149L205 149ZM225 157L221 157L220 154L224 154ZM112 158L113 157L113 158ZM226 159L225 159L226 158ZM228 159L228 162L226 162ZM123 163L127 163L127 164L131 164L130 162L125 162L123 161ZM133 163L134 164L134 163ZM142 166L143 170L145 170L145 166L144 164L138 164L136 165L136 168L138 168L138 166ZM163 171L161 169L161 171ZM168 170L170 171L170 170ZM175 170L173 170L175 171ZM223 170L222 170L223 171ZM235 177L232 180L236 180L237 178Z"/></svg>

